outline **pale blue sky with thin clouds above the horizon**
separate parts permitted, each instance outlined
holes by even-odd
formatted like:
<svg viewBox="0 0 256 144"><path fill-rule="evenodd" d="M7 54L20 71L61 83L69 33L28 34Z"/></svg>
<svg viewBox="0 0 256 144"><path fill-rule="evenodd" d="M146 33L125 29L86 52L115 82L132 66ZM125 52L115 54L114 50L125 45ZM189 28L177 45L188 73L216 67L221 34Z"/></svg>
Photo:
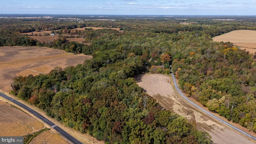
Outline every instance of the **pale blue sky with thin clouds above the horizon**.
<svg viewBox="0 0 256 144"><path fill-rule="evenodd" d="M0 0L0 14L256 15L256 0Z"/></svg>

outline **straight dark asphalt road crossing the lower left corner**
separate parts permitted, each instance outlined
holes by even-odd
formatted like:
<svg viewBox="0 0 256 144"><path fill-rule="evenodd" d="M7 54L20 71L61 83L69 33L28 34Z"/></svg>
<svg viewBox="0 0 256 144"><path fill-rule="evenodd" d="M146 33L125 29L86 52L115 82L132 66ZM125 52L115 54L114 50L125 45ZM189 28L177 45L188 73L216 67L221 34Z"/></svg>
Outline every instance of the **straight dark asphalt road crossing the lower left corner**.
<svg viewBox="0 0 256 144"><path fill-rule="evenodd" d="M25 110L27 110L31 114L34 114L34 116L40 118L40 120L42 120L43 122L45 122L46 124L48 124L49 126L54 128L57 132L62 134L62 136L64 136L68 140L70 140L70 142L72 142L74 144L83 144L82 142L78 141L76 138L74 138L73 136L68 134L66 131L62 130L56 124L54 124L53 122L51 122L50 120L48 120L47 118L45 118L44 116L39 114L38 112L34 111L33 109L29 108L28 106L18 102L17 100L14 100L13 98L10 98L9 96L6 96L5 94L0 93L0 96L2 96L3 98L6 98L7 100L10 100L10 101L14 102L14 104L17 104L18 106L24 108Z"/></svg>

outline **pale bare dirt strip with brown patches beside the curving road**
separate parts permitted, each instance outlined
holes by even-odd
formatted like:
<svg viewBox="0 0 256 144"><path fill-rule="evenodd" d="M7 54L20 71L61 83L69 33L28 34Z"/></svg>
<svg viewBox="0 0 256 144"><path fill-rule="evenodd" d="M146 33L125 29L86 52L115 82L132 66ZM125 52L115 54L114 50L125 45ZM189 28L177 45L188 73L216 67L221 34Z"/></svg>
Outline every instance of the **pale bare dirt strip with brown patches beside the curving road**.
<svg viewBox="0 0 256 144"><path fill-rule="evenodd" d="M208 132L212 136L214 143L254 144L254 142L250 141L246 137L230 130L222 124L219 124L212 118L205 116L202 112L196 110L194 107L186 104L186 102L176 95L176 92L170 83L170 77L160 74L144 74L137 76L136 80L138 85L144 88L150 96L153 96L162 106L164 106L166 110L170 110L184 116L192 122L192 124L195 124L199 130ZM189 114L188 117L187 114ZM237 124L234 125L246 131L242 126Z"/></svg>

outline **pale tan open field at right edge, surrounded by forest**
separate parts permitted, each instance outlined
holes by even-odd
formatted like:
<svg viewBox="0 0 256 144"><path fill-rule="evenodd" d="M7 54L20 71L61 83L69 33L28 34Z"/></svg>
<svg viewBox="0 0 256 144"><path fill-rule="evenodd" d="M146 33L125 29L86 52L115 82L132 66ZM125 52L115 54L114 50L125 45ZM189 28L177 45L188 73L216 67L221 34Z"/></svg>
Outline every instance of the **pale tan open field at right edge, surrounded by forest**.
<svg viewBox="0 0 256 144"><path fill-rule="evenodd" d="M232 42L240 49L246 49L251 53L256 52L256 30L234 30L220 36L215 36L212 40L217 42Z"/></svg>

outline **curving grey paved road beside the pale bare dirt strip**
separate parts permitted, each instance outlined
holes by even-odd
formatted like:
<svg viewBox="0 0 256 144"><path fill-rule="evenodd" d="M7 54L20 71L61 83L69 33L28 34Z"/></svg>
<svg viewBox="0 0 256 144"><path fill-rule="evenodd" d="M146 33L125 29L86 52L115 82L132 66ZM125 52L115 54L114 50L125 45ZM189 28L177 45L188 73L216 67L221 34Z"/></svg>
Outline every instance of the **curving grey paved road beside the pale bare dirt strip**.
<svg viewBox="0 0 256 144"><path fill-rule="evenodd" d="M253 140L256 140L256 137L254 137L254 136L252 136L252 135L250 135L250 134L248 134L248 133L246 133L246 132L240 130L239 128L233 126L232 124L229 124L228 122L222 120L221 118L218 118L218 117L215 116L214 114L212 114L212 113L210 113L210 112L204 110L203 108L201 108L200 106L198 106L197 104L195 104L194 102L192 102L191 100L189 100L189 99L180 91L180 88L179 88L178 85L177 85L177 82L176 82L176 80L175 80L175 77L174 77L174 74L173 74L173 73L172 73L172 80L173 80L175 89L176 89L176 90L178 91L178 93L179 93L186 101L188 101L190 104L192 104L193 106L195 106L195 107L198 108L199 110L203 111L204 113L208 114L208 115L211 116L212 118L218 120L219 122L221 122L221 123L223 123L223 124L229 126L229 127L232 128L233 130L236 130L236 131L240 132L241 134L243 134L243 135L245 135L245 136L247 136L247 137L249 137L249 138L251 138L251 139L253 139Z"/></svg>

